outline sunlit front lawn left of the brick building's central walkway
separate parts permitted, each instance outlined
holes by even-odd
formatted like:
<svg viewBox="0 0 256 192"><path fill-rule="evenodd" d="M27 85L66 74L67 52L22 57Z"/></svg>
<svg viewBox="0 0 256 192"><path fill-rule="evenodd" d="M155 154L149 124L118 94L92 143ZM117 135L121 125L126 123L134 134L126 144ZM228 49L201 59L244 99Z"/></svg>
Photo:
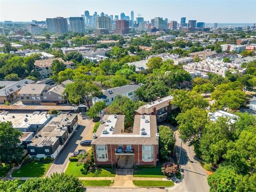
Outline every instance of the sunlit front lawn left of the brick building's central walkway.
<svg viewBox="0 0 256 192"><path fill-rule="evenodd" d="M111 168L95 168L90 170L86 174L86 167L81 164L77 165L77 162L69 162L67 170L65 172L69 175L74 175L75 177L115 177L115 171Z"/></svg>

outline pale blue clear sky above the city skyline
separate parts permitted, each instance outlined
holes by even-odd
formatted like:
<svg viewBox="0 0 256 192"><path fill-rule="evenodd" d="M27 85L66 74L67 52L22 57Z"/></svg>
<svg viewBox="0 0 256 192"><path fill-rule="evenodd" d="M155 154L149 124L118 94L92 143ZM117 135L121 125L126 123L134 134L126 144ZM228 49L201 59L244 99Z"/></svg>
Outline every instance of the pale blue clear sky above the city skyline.
<svg viewBox="0 0 256 192"><path fill-rule="evenodd" d="M134 17L140 13L146 20L163 17L180 21L187 20L203 22L256 22L255 0L115 0L115 1L87 1L87 0L0 0L0 21L31 21L45 20L52 17L79 17L89 10L90 14L118 14L124 12Z"/></svg>

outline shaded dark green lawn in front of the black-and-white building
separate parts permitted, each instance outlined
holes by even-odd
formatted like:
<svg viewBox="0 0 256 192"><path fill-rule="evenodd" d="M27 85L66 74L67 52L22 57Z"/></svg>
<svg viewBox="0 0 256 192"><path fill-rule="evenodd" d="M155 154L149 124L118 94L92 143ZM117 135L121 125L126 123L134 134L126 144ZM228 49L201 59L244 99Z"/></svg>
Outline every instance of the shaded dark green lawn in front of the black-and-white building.
<svg viewBox="0 0 256 192"><path fill-rule="evenodd" d="M51 163L34 161L22 165L19 170L15 170L12 177L43 177L50 166Z"/></svg>

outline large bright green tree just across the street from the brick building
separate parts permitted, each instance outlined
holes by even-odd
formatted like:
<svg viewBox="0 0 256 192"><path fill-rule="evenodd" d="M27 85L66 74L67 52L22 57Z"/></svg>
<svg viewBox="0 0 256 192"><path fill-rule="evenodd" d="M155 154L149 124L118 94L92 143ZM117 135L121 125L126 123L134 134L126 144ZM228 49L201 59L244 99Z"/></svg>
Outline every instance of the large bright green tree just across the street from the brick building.
<svg viewBox="0 0 256 192"><path fill-rule="evenodd" d="M199 141L199 150L206 163L220 163L227 151L227 143L234 140L234 125L230 119L219 117L214 123L206 125Z"/></svg>

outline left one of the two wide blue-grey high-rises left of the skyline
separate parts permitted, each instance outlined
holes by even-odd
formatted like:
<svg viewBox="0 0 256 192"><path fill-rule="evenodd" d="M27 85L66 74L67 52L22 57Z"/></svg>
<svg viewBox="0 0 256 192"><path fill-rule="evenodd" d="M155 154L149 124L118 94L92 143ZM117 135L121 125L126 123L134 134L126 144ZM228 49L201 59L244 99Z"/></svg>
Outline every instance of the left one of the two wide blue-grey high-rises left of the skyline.
<svg viewBox="0 0 256 192"><path fill-rule="evenodd" d="M66 18L46 18L47 30L50 33L68 33L68 21Z"/></svg>

